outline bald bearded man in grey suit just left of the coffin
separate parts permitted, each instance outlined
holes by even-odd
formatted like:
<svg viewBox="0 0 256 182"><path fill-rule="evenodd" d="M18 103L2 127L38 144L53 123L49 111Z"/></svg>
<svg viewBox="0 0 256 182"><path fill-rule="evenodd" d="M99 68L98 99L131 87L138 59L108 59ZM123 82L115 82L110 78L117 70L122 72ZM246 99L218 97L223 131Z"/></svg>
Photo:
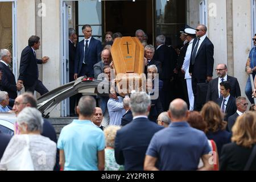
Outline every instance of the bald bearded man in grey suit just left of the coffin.
<svg viewBox="0 0 256 182"><path fill-rule="evenodd" d="M100 74L103 73L103 68L105 67L105 65L109 65L111 60L112 56L109 49L104 49L101 52L101 61L93 65L94 78L99 78L99 80L104 78L104 75L101 76Z"/></svg>

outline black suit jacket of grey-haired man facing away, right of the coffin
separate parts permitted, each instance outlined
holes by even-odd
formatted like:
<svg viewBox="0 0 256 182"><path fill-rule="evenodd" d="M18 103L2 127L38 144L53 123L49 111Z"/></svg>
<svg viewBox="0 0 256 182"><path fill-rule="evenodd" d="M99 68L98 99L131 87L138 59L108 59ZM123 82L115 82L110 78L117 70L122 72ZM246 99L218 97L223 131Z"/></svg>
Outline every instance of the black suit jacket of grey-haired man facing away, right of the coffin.
<svg viewBox="0 0 256 182"><path fill-rule="evenodd" d="M177 63L177 54L174 48L166 45L160 46L156 49L153 60L158 60L162 64L162 72L159 73L160 79L170 79L171 76L174 76L174 68Z"/></svg>

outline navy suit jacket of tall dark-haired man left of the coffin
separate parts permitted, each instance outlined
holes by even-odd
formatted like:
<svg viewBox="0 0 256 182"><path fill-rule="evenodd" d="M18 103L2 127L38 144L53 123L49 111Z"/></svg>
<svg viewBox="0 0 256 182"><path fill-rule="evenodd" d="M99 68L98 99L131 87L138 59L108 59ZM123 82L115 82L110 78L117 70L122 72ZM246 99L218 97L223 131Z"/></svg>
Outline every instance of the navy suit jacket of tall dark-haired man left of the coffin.
<svg viewBox="0 0 256 182"><path fill-rule="evenodd" d="M75 65L74 65L74 73L77 73L79 76L83 76L85 74L94 75L93 73L93 65L98 63L100 59L102 47L100 40L96 40L93 37L90 39L90 43L88 46L86 57L86 67L87 73L82 73L82 62L84 61L84 40L81 40L77 44L76 49L76 58L75 58Z"/></svg>

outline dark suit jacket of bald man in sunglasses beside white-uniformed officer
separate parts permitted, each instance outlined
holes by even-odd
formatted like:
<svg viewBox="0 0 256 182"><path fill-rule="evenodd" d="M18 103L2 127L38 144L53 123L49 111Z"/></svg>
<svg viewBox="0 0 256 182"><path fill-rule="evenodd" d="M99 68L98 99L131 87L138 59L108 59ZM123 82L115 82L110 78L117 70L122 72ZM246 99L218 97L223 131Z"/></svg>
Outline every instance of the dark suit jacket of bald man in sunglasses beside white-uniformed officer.
<svg viewBox="0 0 256 182"><path fill-rule="evenodd" d="M196 42L197 41L194 40L192 52ZM190 61L189 73L192 73L193 78L196 78L197 80L206 80L207 76L212 76L214 64L213 49L214 46L212 42L206 37L197 51L195 64L192 64L192 61Z"/></svg>

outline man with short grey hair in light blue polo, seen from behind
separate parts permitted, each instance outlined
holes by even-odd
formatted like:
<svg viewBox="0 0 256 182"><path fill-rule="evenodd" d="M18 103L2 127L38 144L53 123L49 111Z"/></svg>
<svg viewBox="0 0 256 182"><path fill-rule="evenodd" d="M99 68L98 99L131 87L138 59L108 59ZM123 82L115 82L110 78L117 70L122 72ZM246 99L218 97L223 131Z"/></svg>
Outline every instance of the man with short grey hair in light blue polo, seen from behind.
<svg viewBox="0 0 256 182"><path fill-rule="evenodd" d="M79 119L61 130L57 147L60 149L60 165L65 171L104 170L104 133L90 121L95 107L93 97L81 97L77 106Z"/></svg>

